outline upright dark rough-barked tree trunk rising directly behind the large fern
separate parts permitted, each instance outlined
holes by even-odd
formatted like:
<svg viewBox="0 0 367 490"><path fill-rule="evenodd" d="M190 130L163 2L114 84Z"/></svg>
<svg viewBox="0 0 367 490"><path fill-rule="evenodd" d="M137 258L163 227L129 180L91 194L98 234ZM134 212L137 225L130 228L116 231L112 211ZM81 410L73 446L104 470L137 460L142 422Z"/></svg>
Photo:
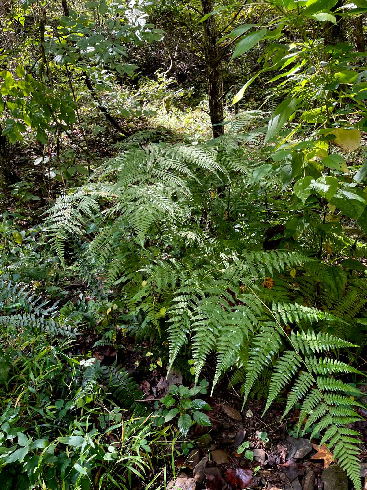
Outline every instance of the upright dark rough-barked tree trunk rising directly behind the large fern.
<svg viewBox="0 0 367 490"><path fill-rule="evenodd" d="M203 16L214 10L213 0L201 0ZM203 47L206 65L206 78L209 97L210 122L214 138L224 134L223 123L223 72L220 50L217 43L217 28L214 15L203 22Z"/></svg>

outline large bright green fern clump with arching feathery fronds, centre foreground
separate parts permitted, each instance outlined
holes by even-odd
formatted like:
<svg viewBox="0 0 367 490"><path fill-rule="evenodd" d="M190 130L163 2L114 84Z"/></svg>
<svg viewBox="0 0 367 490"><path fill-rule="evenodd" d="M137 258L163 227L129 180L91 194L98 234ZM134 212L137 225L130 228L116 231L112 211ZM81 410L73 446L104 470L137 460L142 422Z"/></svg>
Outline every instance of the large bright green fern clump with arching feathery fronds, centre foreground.
<svg viewBox="0 0 367 490"><path fill-rule="evenodd" d="M157 348L168 338L169 369L189 348L195 383L214 353L213 388L234 367L232 383L242 383L245 400L264 374L266 408L287 390L285 414L300 406L299 431L321 432L360 489L359 439L348 427L361 418L360 392L347 384L359 371L334 361L354 343L343 334L351 329L345 308L330 299L351 303L348 274L286 234L276 242L282 249L262 249L271 216L284 232L288 208L273 181L253 178L257 164L238 142L229 135L196 146L147 144L136 136L91 183L51 208L49 243L67 265L71 235L85 236L83 264L102 278L104 294L118 290L132 322L126 332L149 335ZM319 294L320 285L328 293Z"/></svg>

